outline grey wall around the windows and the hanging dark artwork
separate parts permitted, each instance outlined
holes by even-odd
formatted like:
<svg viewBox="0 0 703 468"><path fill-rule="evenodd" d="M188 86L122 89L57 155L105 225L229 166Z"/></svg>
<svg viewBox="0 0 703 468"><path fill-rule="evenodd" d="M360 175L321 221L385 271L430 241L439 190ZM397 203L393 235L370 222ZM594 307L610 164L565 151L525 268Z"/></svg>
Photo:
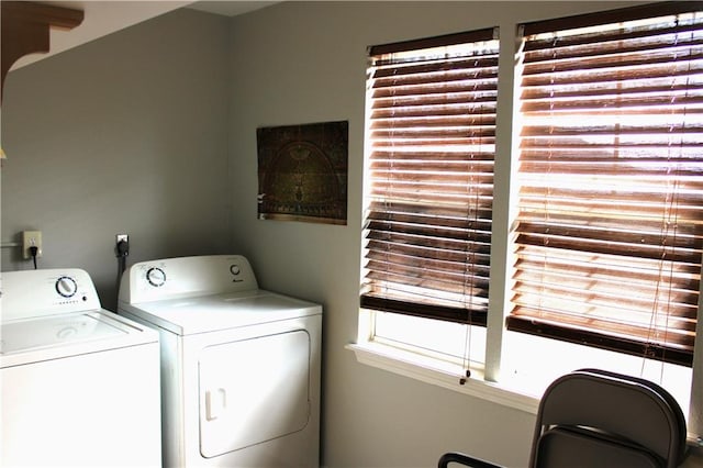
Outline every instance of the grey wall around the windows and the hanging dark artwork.
<svg viewBox="0 0 703 468"><path fill-rule="evenodd" d="M324 304L325 466L432 467L460 449L523 467L534 424L527 413L359 365L344 348L357 334L367 46L493 25L512 34L522 21L622 4L284 2L234 19L234 245L264 287ZM349 121L348 224L257 221L256 129L337 120Z"/></svg>

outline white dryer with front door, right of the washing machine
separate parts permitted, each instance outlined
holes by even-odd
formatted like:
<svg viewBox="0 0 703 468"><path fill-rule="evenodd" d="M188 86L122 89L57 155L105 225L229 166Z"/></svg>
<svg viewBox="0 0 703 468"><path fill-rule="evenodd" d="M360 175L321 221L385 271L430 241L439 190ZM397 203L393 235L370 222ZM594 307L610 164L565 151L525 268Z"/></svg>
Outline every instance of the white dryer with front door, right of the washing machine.
<svg viewBox="0 0 703 468"><path fill-rule="evenodd" d="M322 308L238 255L133 265L119 313L158 330L166 467L317 467Z"/></svg>

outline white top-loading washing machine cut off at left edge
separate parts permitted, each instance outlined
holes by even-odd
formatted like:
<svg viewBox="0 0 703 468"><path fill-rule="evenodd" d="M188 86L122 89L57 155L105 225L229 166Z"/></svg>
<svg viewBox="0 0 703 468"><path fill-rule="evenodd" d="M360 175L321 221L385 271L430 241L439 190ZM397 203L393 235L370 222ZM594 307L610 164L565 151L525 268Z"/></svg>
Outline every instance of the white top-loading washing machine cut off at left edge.
<svg viewBox="0 0 703 468"><path fill-rule="evenodd" d="M160 467L158 334L83 270L0 279L0 466Z"/></svg>

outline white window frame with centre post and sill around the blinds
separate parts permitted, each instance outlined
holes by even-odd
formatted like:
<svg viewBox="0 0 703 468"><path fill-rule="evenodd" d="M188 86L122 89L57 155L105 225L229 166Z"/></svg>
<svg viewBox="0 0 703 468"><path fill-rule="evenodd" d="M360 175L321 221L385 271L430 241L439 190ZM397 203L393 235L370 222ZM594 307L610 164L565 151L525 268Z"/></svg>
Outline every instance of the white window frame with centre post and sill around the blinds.
<svg viewBox="0 0 703 468"><path fill-rule="evenodd" d="M683 2L684 3L684 2ZM635 9L650 8L649 5L635 7ZM607 12L605 12L607 13ZM602 14L602 13L594 13ZM580 15L585 16L585 15ZM570 19L553 20L555 24ZM357 343L350 344L348 349L354 350L359 363L386 369L399 375L415 378L427 383L451 389L465 394L504 404L522 411L536 413L538 395L531 395L522 388L512 386L505 376L501 376L505 335L507 332L504 322L510 313L510 271L513 265L511 245L513 233L511 225L515 220L516 185L511 183L516 177L518 135L513 127L518 126L518 86L514 66L515 46L518 35L511 37L505 26L500 41L499 65L499 98L498 98L498 124L500 129L496 137L494 185L500 189L493 194L493 233L491 249L491 288L489 293L489 311L487 319L487 349L486 361L471 379L458 381L456 376L461 369L439 363L427 356L417 355L408 349L399 349L382 342L375 342L375 311L359 311ZM515 24L517 31L517 24ZM366 171L365 171L366 174ZM365 181L366 183L366 181ZM703 281L701 285L703 292ZM703 293L699 301L699 317L703 311ZM512 332L515 333L515 332ZM691 368L689 431L693 437L703 436L703 321L696 325L696 346L694 348L693 366ZM577 346L577 345L573 345ZM473 370L473 369L472 369ZM503 378L502 378L503 377Z"/></svg>

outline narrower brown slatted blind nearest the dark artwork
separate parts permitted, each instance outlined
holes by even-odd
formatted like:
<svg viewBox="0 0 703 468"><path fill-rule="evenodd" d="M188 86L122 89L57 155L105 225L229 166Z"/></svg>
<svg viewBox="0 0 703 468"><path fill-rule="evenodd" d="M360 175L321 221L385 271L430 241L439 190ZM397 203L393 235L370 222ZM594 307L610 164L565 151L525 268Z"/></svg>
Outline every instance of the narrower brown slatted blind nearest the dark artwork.
<svg viewBox="0 0 703 468"><path fill-rule="evenodd" d="M364 308L486 324L496 33L369 48Z"/></svg>

